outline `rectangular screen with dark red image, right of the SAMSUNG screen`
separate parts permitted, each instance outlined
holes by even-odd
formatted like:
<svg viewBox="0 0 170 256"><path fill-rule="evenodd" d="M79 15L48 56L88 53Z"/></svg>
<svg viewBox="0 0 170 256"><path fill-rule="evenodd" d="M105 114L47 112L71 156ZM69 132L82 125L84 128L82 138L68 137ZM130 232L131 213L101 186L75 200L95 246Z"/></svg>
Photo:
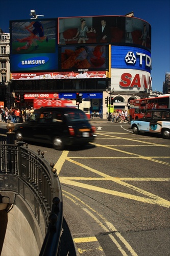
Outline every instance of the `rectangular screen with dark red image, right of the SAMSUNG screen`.
<svg viewBox="0 0 170 256"><path fill-rule="evenodd" d="M62 46L60 50L61 71L108 70L108 46Z"/></svg>

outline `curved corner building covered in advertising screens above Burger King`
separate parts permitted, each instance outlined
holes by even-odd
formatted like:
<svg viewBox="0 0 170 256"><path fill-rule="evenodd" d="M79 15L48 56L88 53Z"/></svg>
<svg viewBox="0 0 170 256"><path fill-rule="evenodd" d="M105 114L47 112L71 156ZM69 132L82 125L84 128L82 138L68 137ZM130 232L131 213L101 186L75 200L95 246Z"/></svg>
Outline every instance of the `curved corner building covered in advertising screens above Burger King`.
<svg viewBox="0 0 170 256"><path fill-rule="evenodd" d="M144 20L128 15L12 20L10 38L6 83L25 95L20 107L34 106L35 100L39 105L76 101L79 92L82 106L105 117L108 111L128 110L131 99L148 97L152 90L151 26Z"/></svg>

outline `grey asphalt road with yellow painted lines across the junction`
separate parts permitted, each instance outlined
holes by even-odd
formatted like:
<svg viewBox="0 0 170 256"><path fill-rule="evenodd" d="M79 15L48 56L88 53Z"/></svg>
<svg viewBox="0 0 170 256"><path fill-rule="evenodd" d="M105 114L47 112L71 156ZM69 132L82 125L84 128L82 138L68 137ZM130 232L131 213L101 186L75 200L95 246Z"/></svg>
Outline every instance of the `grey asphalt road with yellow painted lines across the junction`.
<svg viewBox="0 0 170 256"><path fill-rule="evenodd" d="M29 144L45 152L60 178L62 256L169 255L169 140L134 135L129 124L90 122L98 137L88 146L60 152Z"/></svg>

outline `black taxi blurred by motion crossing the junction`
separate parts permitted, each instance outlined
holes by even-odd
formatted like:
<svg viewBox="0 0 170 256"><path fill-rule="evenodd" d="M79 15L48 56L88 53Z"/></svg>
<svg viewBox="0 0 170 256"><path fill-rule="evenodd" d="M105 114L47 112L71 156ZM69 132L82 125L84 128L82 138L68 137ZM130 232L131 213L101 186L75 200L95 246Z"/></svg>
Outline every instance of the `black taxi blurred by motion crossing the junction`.
<svg viewBox="0 0 170 256"><path fill-rule="evenodd" d="M77 108L40 108L28 122L17 124L15 137L25 141L50 143L56 150L66 145L85 145L95 139L95 127Z"/></svg>

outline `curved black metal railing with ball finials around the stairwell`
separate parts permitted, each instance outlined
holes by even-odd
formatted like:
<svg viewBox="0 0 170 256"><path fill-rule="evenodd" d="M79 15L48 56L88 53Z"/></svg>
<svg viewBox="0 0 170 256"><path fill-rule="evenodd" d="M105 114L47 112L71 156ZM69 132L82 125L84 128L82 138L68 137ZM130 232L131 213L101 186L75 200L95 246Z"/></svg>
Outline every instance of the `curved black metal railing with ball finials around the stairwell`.
<svg viewBox="0 0 170 256"><path fill-rule="evenodd" d="M44 159L44 152L29 150L25 142L7 144L12 134L7 135L7 141L0 137L1 191L17 193L33 211L44 233L39 255L59 255L63 203L54 163Z"/></svg>

